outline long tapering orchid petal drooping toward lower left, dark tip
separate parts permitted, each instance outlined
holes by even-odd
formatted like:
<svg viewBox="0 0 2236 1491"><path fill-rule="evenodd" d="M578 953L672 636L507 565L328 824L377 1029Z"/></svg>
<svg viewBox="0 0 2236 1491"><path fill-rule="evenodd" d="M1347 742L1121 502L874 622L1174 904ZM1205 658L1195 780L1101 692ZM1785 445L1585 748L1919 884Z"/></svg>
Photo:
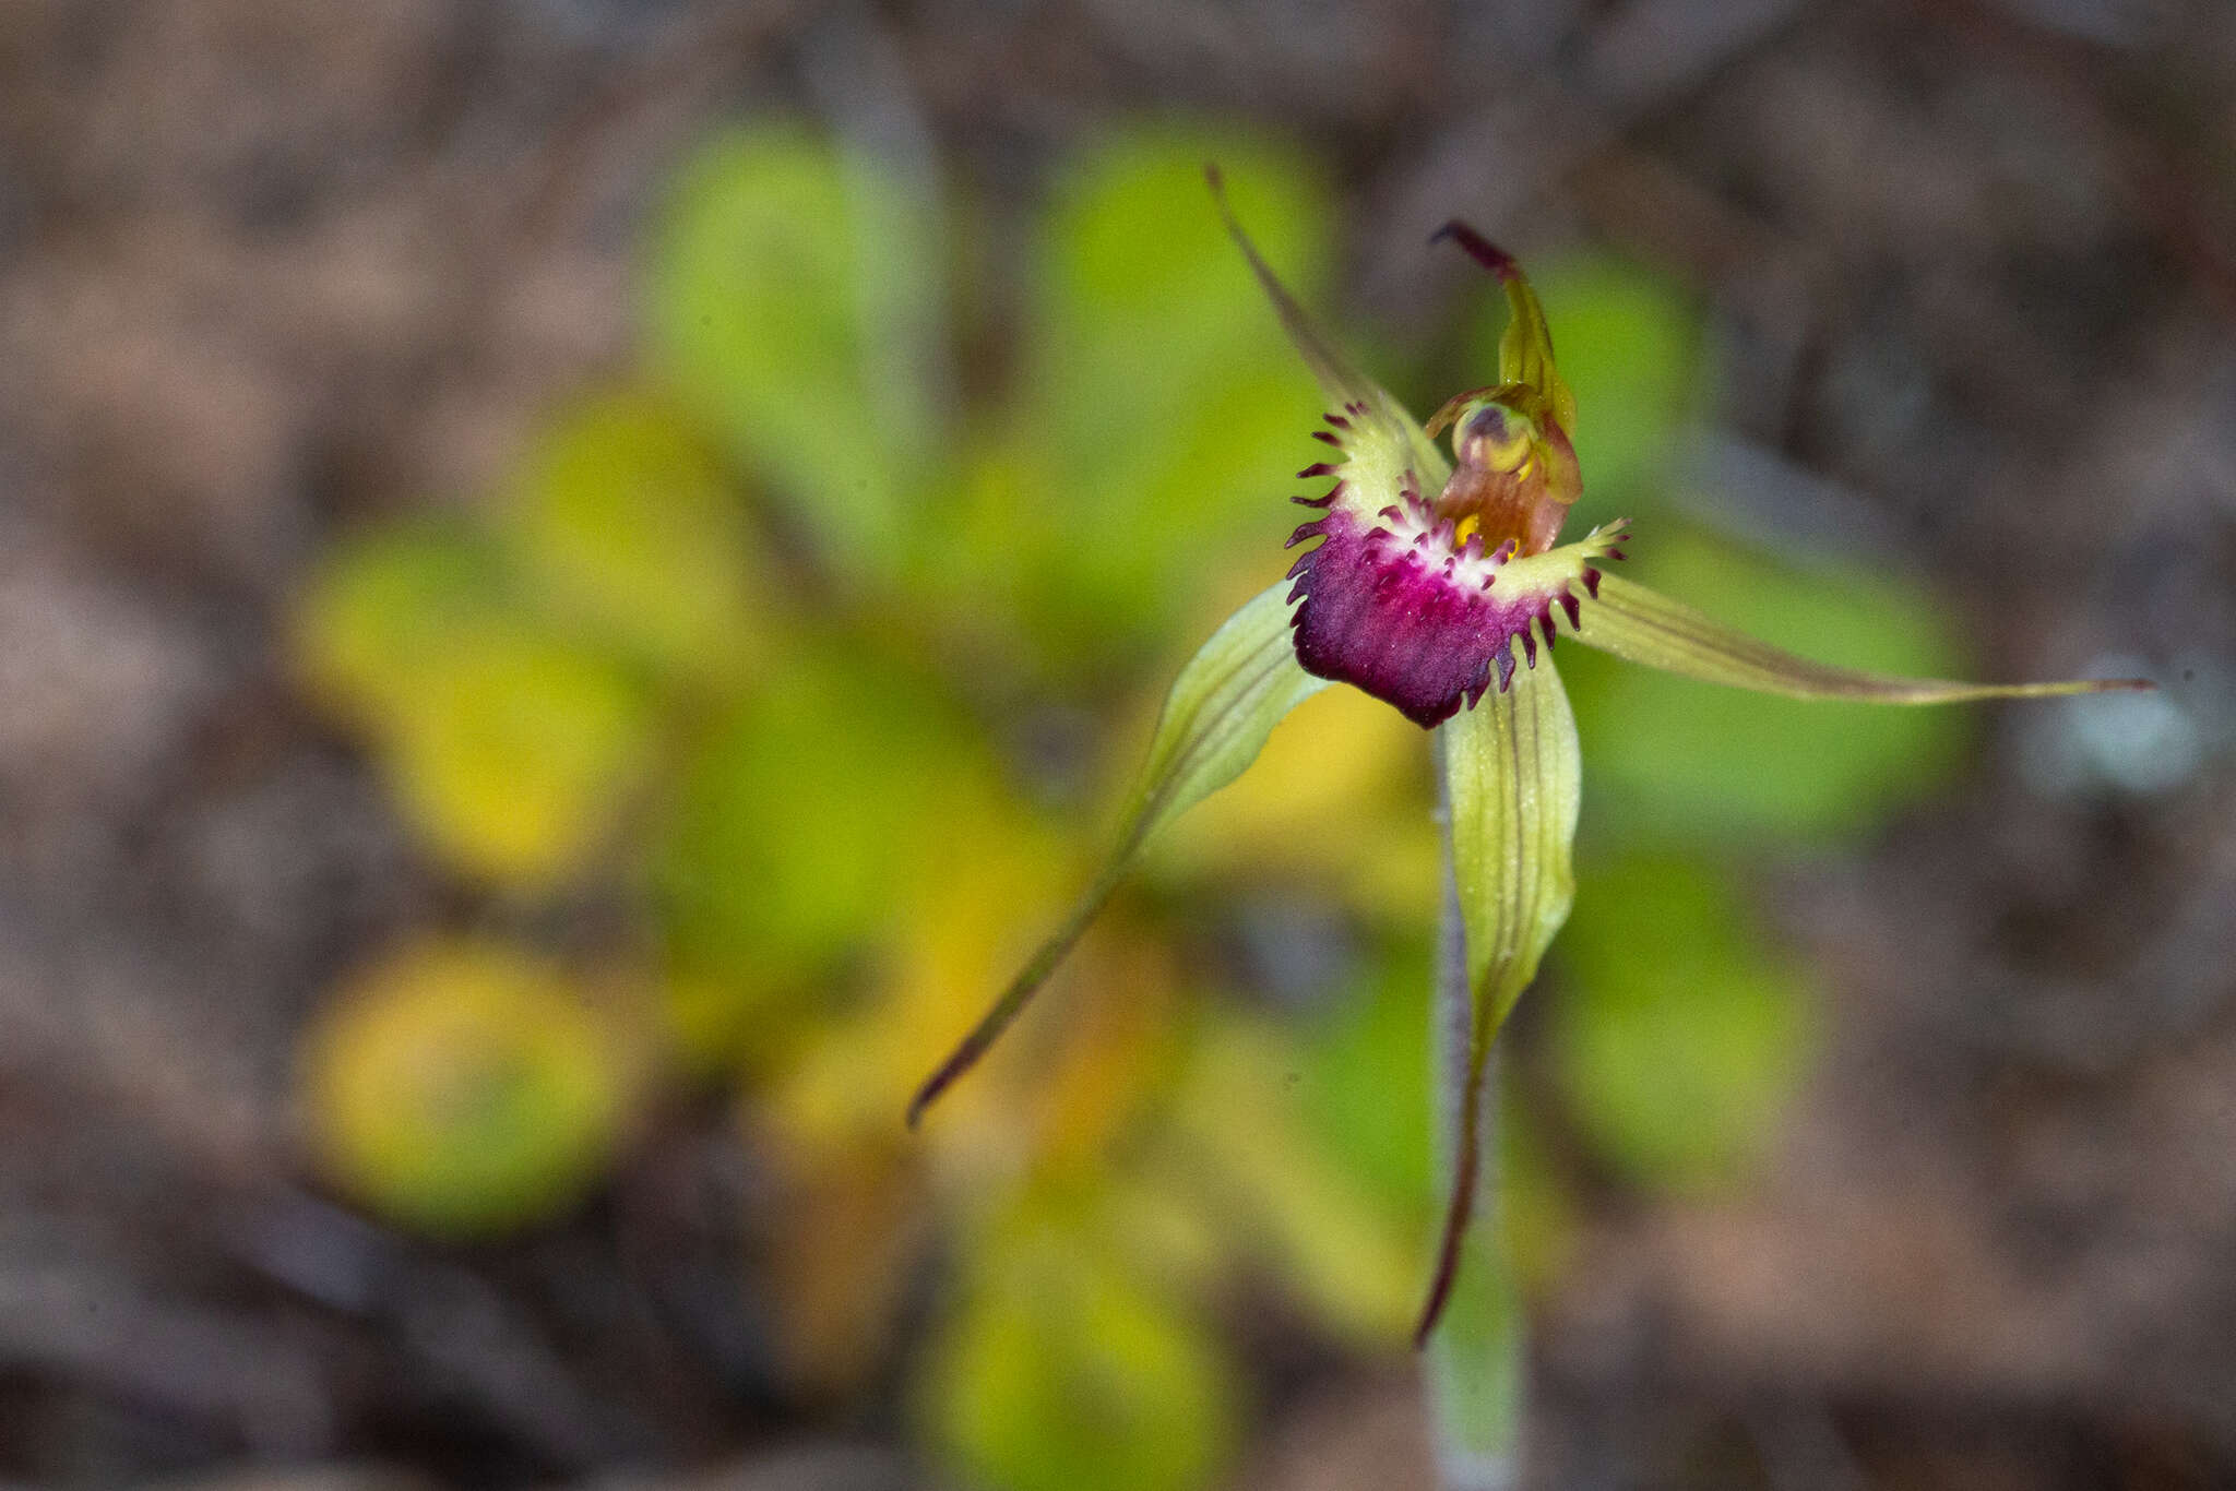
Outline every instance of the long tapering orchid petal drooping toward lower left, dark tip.
<svg viewBox="0 0 2236 1491"><path fill-rule="evenodd" d="M1288 581L1263 590L1228 617L1181 668L1172 693L1165 695L1165 713L1158 718L1156 738L1149 742L1149 762L1143 767L1140 785L1127 807L1118 849L1071 917L1040 946L993 1008L917 1089L908 1104L908 1127L917 1127L923 1109L977 1066L1002 1031L1017 1019L1064 961L1064 955L1071 952L1071 946L1087 932L1096 912L1118 890L1143 845L1190 807L1239 778L1266 747L1272 726L1328 686L1326 680L1297 666L1297 648L1288 633Z"/></svg>

